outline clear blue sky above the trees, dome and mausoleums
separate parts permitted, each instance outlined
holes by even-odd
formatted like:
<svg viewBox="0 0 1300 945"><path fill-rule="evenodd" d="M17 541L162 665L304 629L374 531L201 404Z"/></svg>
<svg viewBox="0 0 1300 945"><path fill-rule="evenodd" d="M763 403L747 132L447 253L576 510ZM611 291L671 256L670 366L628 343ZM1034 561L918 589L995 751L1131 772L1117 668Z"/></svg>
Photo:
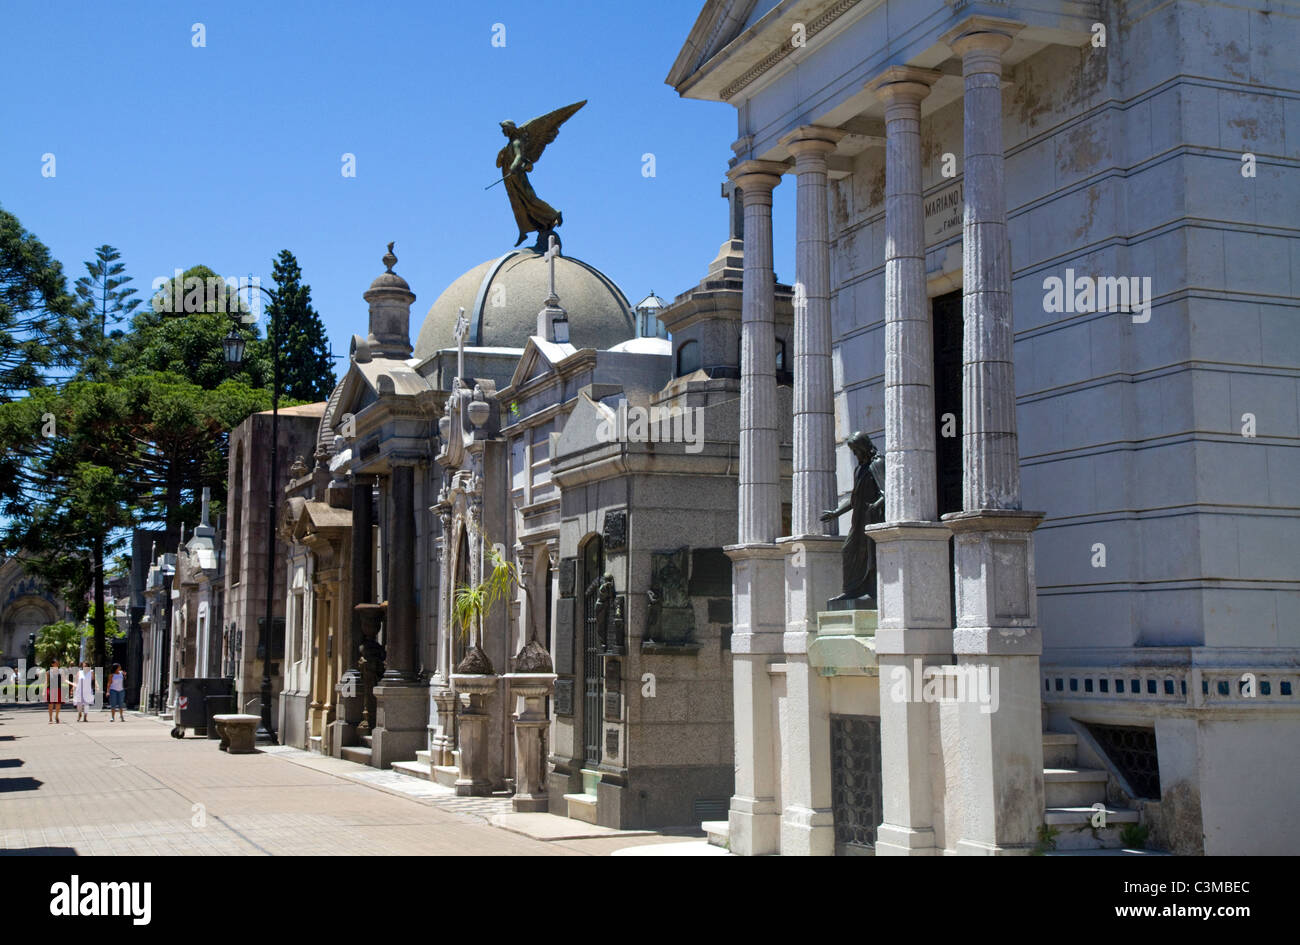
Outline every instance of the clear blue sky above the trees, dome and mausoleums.
<svg viewBox="0 0 1300 945"><path fill-rule="evenodd" d="M200 263L269 285L287 248L346 354L389 240L417 296L412 339L442 289L514 244L503 190L484 190L504 143L497 123L588 99L533 185L564 212L568 255L633 303L651 289L671 298L725 237L719 183L736 138L733 108L663 82L699 8L4 0L0 205L69 281L94 247L116 246L142 295ZM491 44L497 23L504 47ZM344 152L355 178L341 173ZM777 188L785 281L793 196Z"/></svg>

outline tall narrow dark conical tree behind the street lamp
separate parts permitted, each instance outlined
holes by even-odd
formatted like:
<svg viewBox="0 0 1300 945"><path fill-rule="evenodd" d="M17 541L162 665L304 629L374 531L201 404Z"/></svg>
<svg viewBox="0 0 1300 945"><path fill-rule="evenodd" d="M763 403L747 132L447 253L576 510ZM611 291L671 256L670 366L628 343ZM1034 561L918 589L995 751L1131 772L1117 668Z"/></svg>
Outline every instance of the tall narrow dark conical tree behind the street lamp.
<svg viewBox="0 0 1300 945"><path fill-rule="evenodd" d="M334 390L334 365L325 325L312 308L312 287L303 285L303 270L289 250L273 260L270 278L276 289L266 325L268 331L274 326L280 344L280 390L289 399L325 400Z"/></svg>

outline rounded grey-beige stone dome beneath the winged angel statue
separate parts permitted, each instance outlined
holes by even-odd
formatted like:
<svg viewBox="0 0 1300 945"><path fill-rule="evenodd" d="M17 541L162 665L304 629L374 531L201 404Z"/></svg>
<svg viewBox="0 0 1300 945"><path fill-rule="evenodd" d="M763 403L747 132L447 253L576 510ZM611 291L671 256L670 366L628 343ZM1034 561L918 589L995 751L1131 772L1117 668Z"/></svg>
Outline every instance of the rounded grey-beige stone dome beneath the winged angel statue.
<svg viewBox="0 0 1300 945"><path fill-rule="evenodd" d="M426 360L456 347L456 315L469 316L465 347L521 348L537 334L537 313L550 292L546 259L515 250L480 263L452 282L429 308L415 343ZM555 294L569 318L569 342L578 348L611 348L636 334L627 298L614 279L572 256L555 259Z"/></svg>

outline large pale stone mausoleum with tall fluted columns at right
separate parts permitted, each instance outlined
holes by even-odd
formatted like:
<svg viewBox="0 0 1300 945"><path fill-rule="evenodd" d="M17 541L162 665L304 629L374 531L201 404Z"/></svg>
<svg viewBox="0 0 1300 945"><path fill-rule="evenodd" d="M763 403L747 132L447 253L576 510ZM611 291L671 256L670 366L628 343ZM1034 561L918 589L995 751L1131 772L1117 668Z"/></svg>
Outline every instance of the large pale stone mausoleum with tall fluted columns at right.
<svg viewBox="0 0 1300 945"><path fill-rule="evenodd" d="M793 576L784 620L777 601L749 607L771 668L737 695L733 850L829 851L832 831L853 833L832 776L855 762L836 753L871 747L844 725L884 729L884 825L857 849L1014 851L1044 822L1079 838L1076 768L1165 849L1295 845L1278 825L1300 755L1300 502L1283 472L1300 83L1278 49L1297 32L1264 4L705 5L668 81L737 107L733 177L797 178L810 330L828 226L837 439L883 433L888 478L879 629L826 634L879 658L853 671L859 694L790 675L807 616ZM827 221L809 209L810 149ZM820 447L796 447L797 476L819 467L798 452ZM777 573L771 537L755 532L746 573ZM740 632L753 602L736 593ZM1002 708L883 699L914 663L996 667ZM757 718L775 699L822 719L812 742Z"/></svg>

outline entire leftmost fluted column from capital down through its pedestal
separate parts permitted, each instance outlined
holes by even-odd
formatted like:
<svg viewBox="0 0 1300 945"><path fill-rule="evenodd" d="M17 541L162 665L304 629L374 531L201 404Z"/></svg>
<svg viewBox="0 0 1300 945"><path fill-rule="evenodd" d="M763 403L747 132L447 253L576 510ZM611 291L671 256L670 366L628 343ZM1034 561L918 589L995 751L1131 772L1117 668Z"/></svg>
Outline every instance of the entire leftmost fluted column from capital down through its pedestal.
<svg viewBox="0 0 1300 945"><path fill-rule="evenodd" d="M770 666L785 633L785 551L781 528L780 422L776 415L776 279L772 273L772 188L785 165L744 161L728 174L744 192L745 276L741 302L738 543L732 567L732 676L736 793L733 853L776 853L779 771L772 758Z"/></svg>

